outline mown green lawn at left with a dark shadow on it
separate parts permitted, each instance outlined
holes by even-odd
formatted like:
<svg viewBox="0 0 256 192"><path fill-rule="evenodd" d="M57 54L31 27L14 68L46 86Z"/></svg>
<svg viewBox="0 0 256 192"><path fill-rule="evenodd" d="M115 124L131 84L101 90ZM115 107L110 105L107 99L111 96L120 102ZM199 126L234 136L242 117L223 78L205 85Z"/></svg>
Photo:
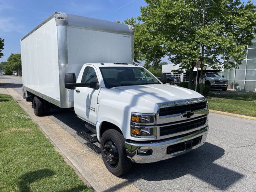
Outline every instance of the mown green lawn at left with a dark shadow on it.
<svg viewBox="0 0 256 192"><path fill-rule="evenodd" d="M91 191L5 94L0 94L0 191Z"/></svg>

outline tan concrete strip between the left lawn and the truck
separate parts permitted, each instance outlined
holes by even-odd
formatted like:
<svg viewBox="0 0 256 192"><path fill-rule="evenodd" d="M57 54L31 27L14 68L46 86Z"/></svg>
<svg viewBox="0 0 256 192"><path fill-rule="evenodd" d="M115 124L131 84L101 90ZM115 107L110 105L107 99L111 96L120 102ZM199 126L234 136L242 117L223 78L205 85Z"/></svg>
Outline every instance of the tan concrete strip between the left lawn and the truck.
<svg viewBox="0 0 256 192"><path fill-rule="evenodd" d="M0 80L0 83L4 82ZM12 88L8 88L3 84L0 87L0 93L9 94L18 102L25 112L28 113L31 119L38 124L44 134L52 141L52 143L54 143L57 147L57 151L59 150L62 156L72 163L74 168L77 170L78 175L80 177L82 176L85 182L88 181L94 190L97 192L140 191L136 186L131 184L129 180L118 178L108 172L99 156L92 153L85 145L63 130L48 116L35 116L30 103L26 102L26 100L24 100L22 96Z"/></svg>

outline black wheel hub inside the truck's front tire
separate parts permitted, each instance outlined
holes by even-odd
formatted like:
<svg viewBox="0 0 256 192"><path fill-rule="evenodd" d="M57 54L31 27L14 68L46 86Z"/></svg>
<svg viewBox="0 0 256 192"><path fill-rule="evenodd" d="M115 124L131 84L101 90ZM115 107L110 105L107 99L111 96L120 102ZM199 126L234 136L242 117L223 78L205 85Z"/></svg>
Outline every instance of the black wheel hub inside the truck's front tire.
<svg viewBox="0 0 256 192"><path fill-rule="evenodd" d="M106 162L110 166L116 167L118 164L118 151L116 148L116 144L112 140L108 140L104 144L103 153L104 153L104 158Z"/></svg>

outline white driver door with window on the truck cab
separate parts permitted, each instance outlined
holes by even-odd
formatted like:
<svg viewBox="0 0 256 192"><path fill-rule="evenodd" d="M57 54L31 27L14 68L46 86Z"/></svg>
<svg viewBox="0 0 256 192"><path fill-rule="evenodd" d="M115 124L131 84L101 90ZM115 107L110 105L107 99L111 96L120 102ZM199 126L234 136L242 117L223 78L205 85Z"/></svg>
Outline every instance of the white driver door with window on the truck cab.
<svg viewBox="0 0 256 192"><path fill-rule="evenodd" d="M90 83L98 81L98 74L94 66L86 66L84 72L79 75L78 83ZM74 90L74 110L77 116L93 125L97 120L98 90L90 87L77 87Z"/></svg>

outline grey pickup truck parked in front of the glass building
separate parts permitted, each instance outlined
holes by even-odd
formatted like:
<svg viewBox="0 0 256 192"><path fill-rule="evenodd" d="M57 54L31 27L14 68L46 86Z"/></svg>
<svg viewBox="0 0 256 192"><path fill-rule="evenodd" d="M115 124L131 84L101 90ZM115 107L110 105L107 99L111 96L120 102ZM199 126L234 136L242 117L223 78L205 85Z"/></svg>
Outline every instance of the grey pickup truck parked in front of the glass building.
<svg viewBox="0 0 256 192"><path fill-rule="evenodd" d="M204 73L203 83L211 88L222 89L223 91L228 89L228 80L218 73Z"/></svg>

